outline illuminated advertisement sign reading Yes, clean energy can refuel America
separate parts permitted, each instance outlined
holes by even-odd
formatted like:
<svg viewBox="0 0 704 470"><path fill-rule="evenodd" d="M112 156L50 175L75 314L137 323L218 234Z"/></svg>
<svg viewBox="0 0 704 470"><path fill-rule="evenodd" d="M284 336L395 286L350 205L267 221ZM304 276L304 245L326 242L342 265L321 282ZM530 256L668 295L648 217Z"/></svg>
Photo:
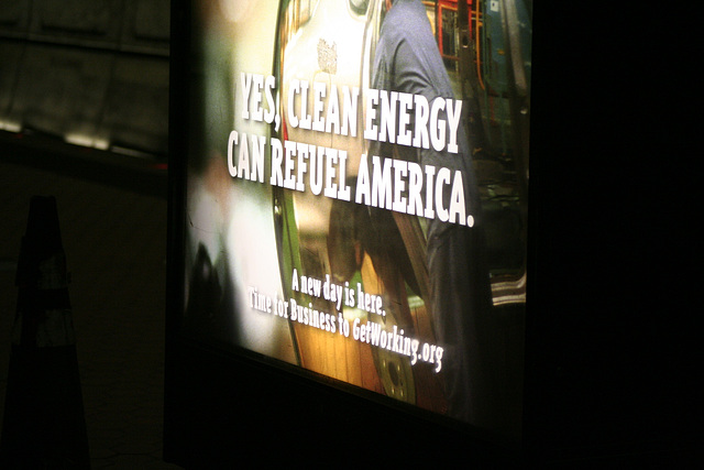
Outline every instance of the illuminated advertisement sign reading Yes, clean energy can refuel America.
<svg viewBox="0 0 704 470"><path fill-rule="evenodd" d="M519 435L531 9L193 2L178 335Z"/></svg>

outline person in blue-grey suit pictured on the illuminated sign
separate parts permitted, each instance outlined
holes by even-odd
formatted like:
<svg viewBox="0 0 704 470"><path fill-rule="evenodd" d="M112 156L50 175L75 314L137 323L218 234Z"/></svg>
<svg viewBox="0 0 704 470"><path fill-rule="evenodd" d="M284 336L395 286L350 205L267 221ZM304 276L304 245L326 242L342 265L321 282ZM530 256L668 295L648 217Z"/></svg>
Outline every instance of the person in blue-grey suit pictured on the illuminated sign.
<svg viewBox="0 0 704 470"><path fill-rule="evenodd" d="M388 8L391 0L386 2ZM447 141L440 149L432 144L370 142L370 153L432 166L436 172L448 168L453 175L461 175L463 214L470 216L466 223L462 218L441 221L437 215L426 219L430 311L436 339L446 350L442 375L449 401L448 413L475 425L490 425L494 420L493 381L488 369L494 328L491 326L491 287L484 262L481 201L471 146L459 116L462 101L454 100L426 9L419 0L395 0L386 12L376 46L372 88L422 96L430 107L441 99L442 108L435 124L449 123L450 107L459 120L459 125L453 129L457 134L451 139L446 133ZM410 122L409 127L413 125ZM432 125L431 122L429 132L437 130ZM451 127L446 131L451 132ZM450 140L457 143L452 151L447 144ZM449 188L450 185L446 185L441 195L444 208L450 207L452 196ZM432 190L438 197L437 187Z"/></svg>

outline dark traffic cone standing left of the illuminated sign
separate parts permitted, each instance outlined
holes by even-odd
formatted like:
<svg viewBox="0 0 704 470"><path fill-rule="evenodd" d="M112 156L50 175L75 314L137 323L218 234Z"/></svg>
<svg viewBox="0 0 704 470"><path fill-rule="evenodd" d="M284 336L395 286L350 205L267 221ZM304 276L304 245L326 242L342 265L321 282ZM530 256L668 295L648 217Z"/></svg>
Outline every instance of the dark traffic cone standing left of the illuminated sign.
<svg viewBox="0 0 704 470"><path fill-rule="evenodd" d="M54 197L34 196L22 239L0 468L90 468L66 259Z"/></svg>

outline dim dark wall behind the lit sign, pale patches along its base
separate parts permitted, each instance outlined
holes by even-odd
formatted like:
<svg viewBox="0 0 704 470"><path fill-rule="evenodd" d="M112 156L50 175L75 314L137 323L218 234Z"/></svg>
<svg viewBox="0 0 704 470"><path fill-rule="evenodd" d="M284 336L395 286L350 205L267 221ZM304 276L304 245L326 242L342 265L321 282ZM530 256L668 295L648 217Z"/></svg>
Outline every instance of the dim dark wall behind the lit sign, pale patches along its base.
<svg viewBox="0 0 704 470"><path fill-rule="evenodd" d="M169 0L0 0L0 130L165 155Z"/></svg>

